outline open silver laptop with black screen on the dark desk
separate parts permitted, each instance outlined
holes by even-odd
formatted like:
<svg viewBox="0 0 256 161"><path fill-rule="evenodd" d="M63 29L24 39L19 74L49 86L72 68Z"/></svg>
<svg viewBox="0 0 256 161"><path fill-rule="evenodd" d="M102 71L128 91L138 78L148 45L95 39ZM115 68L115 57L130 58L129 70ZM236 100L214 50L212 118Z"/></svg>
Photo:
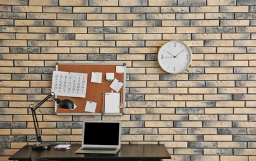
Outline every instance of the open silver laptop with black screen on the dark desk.
<svg viewBox="0 0 256 161"><path fill-rule="evenodd" d="M83 121L82 130L76 154L116 154L121 148L121 121Z"/></svg>

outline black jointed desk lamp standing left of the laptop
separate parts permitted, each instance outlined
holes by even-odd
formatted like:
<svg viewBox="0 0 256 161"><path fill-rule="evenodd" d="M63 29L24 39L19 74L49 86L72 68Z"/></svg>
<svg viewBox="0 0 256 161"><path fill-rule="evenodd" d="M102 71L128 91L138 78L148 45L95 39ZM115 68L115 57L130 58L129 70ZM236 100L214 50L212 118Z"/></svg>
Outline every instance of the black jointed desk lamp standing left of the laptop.
<svg viewBox="0 0 256 161"><path fill-rule="evenodd" d="M53 92L50 92L50 94L47 95L47 97L45 97L44 100L42 100L38 105L36 105L36 106L34 106L33 104L29 105L29 108L31 109L31 113L33 116L35 130L36 130L37 142L36 142L36 144L34 144L32 146L32 149L34 149L34 150L50 149L50 144L42 144L42 138L41 138L41 134L40 134L40 130L39 130L39 124L38 124L37 116L36 116L37 108L39 108L42 104L44 104L44 102L46 102L50 97L52 97L52 100L54 100L55 103L59 104L59 108L65 108L65 109L73 109L74 108L72 100L69 100L69 99L60 100L58 98L54 98ZM39 142L40 142L40 144L39 144Z"/></svg>

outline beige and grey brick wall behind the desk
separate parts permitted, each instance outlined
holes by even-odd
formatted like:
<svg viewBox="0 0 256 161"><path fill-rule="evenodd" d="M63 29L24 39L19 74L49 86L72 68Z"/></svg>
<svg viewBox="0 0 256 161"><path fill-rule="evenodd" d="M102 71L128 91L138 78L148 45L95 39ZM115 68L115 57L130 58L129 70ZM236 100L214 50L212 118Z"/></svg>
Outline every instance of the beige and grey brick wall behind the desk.
<svg viewBox="0 0 256 161"><path fill-rule="evenodd" d="M123 144L165 144L172 160L256 160L255 0L1 0L0 160L34 138L31 103L51 88L55 63L127 64ZM192 64L166 74L168 40ZM82 120L37 110L42 139L79 144Z"/></svg>

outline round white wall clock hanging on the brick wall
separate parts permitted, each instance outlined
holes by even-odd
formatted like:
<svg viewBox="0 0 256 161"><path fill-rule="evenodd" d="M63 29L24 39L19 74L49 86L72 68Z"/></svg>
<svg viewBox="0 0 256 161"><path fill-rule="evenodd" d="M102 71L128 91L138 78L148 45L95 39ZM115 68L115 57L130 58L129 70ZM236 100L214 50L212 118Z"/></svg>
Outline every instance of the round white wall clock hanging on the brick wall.
<svg viewBox="0 0 256 161"><path fill-rule="evenodd" d="M171 74L183 72L190 66L192 52L185 43L178 40L168 41L158 51L158 63Z"/></svg>

